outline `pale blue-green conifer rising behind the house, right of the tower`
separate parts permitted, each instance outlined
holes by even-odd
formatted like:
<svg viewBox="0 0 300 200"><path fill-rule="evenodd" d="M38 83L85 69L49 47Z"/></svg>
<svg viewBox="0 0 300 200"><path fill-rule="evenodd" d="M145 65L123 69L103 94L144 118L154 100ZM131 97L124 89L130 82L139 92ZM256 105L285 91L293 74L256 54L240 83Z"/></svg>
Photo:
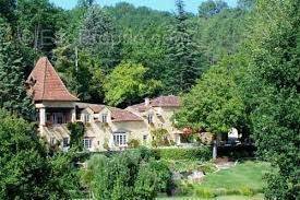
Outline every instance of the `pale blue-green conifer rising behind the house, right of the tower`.
<svg viewBox="0 0 300 200"><path fill-rule="evenodd" d="M115 22L98 5L88 8L80 33L80 45L97 58L108 73L121 59L121 37Z"/></svg>

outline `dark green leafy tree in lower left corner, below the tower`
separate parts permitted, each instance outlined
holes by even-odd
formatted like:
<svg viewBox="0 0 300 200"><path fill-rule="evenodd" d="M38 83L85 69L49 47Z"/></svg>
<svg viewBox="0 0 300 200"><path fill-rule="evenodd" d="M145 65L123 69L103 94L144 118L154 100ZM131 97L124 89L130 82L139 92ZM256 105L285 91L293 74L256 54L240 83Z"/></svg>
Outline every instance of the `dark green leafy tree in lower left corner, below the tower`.
<svg viewBox="0 0 300 200"><path fill-rule="evenodd" d="M70 199L70 190L76 188L73 156L49 157L36 128L3 109L0 109L0 154L1 199Z"/></svg>

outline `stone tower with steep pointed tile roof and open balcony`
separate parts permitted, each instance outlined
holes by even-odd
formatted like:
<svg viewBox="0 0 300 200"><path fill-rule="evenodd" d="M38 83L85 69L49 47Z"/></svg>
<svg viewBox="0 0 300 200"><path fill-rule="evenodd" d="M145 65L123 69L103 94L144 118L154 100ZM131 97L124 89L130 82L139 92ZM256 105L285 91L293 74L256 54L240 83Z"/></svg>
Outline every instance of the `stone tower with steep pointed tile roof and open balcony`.
<svg viewBox="0 0 300 200"><path fill-rule="evenodd" d="M75 121L75 104L80 99L67 90L46 57L37 61L26 87L38 114L40 137L51 145L59 142L68 149L70 132L65 125Z"/></svg>

